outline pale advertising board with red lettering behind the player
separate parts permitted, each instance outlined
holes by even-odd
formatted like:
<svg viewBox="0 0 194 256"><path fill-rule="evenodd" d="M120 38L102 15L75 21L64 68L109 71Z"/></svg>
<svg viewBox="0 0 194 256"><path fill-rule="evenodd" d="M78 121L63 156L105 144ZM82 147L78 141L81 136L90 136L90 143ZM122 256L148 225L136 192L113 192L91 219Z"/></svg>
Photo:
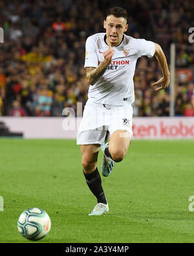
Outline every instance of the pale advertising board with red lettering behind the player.
<svg viewBox="0 0 194 256"><path fill-rule="evenodd" d="M81 117L0 117L0 136L76 139ZM133 139L194 139L194 117L134 117Z"/></svg>

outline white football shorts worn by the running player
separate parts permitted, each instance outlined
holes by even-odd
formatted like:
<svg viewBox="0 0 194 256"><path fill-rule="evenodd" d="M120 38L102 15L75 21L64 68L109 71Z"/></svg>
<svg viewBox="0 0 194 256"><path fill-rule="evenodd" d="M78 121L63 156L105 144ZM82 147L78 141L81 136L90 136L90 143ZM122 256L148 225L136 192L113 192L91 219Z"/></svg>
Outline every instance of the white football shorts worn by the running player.
<svg viewBox="0 0 194 256"><path fill-rule="evenodd" d="M125 130L132 137L132 119L133 107L128 102L125 106L113 106L88 99L78 129L77 145L103 145L107 130L110 135L116 130Z"/></svg>

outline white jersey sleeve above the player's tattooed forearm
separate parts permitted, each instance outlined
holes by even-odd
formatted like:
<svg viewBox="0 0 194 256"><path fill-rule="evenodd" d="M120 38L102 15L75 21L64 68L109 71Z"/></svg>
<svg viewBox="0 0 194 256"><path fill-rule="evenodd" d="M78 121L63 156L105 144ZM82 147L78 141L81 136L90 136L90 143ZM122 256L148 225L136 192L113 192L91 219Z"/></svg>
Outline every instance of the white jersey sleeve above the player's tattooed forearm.
<svg viewBox="0 0 194 256"><path fill-rule="evenodd" d="M84 67L98 67L98 56L96 54L96 41L92 36L89 36L89 38L87 38L85 43Z"/></svg>

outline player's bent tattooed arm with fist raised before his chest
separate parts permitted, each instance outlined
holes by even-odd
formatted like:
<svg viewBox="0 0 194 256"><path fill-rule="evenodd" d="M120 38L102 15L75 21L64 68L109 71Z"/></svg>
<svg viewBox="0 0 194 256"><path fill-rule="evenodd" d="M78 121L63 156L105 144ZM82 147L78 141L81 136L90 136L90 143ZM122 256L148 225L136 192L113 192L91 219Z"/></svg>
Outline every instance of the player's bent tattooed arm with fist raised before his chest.
<svg viewBox="0 0 194 256"><path fill-rule="evenodd" d="M104 60L103 62L98 66L98 67L86 67L86 77L87 77L87 82L93 86L105 73L107 67L111 64L112 57L114 54L114 49L112 49L109 46L109 49L107 51L103 52L103 57Z"/></svg>

